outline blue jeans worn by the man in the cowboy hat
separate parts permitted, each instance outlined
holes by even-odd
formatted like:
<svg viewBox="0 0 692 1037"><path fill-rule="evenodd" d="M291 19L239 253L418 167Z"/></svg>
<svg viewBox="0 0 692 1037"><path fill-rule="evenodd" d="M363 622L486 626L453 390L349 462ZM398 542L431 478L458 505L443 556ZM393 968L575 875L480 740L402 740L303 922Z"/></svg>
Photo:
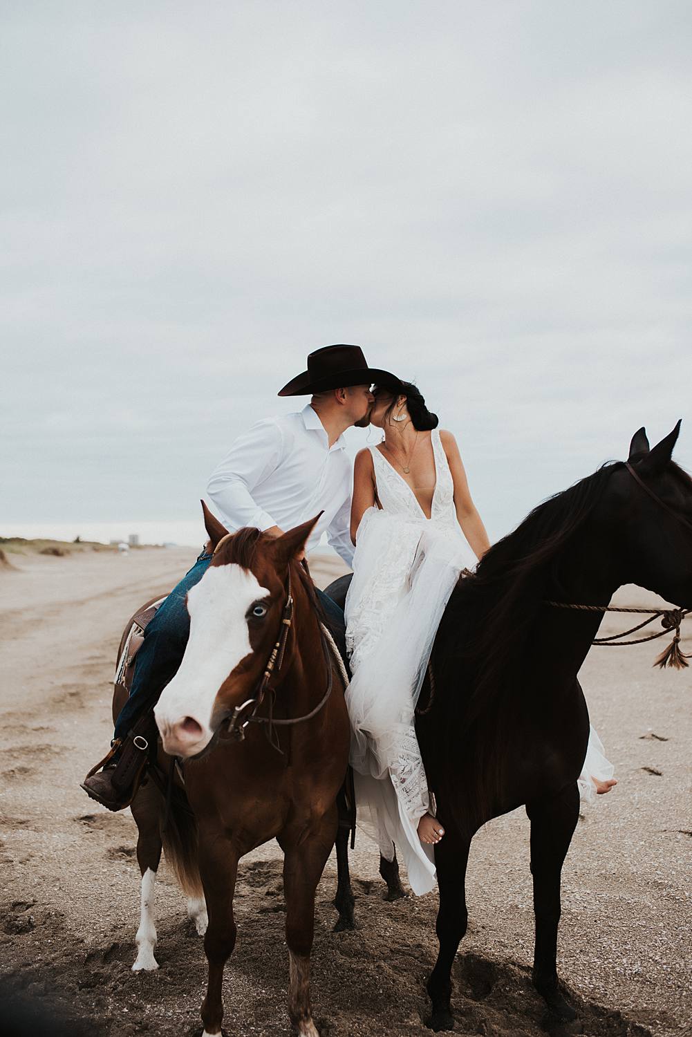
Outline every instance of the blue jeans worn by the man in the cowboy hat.
<svg viewBox="0 0 692 1037"><path fill-rule="evenodd" d="M211 561L212 556L202 551L144 630L144 642L135 656L130 698L115 722L116 738L124 738L135 721L154 708L166 684L175 676L190 637L186 597L204 576ZM338 605L324 591L317 590L317 597L329 620L337 628L343 626L343 613Z"/></svg>

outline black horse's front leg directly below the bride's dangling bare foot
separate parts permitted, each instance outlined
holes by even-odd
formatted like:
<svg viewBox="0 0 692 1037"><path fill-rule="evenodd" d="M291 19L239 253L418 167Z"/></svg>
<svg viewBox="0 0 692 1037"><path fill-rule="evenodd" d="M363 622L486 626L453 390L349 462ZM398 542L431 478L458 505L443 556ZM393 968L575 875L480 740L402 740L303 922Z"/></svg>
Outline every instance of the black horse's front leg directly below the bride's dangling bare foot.
<svg viewBox="0 0 692 1037"><path fill-rule="evenodd" d="M427 1024L431 1030L452 1030L451 966L468 925L466 908L466 866L469 860L470 839L455 833L445 824L445 836L435 847L440 907L437 917L437 934L440 943L438 959L427 981L427 992L433 1002L433 1015Z"/></svg>

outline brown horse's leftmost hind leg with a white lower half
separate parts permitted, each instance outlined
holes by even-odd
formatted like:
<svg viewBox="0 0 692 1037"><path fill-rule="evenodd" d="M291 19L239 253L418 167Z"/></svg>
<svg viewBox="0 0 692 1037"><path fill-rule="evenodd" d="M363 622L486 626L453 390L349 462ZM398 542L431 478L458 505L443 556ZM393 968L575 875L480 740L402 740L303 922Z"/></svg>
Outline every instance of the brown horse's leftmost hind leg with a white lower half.
<svg viewBox="0 0 692 1037"><path fill-rule="evenodd" d="M135 936L137 957L133 972L150 972L159 964L154 957L157 928L154 922L154 887L161 862L161 834L159 832L159 803L157 790L150 783L140 788L132 804L137 822L137 863L142 876L139 928Z"/></svg>

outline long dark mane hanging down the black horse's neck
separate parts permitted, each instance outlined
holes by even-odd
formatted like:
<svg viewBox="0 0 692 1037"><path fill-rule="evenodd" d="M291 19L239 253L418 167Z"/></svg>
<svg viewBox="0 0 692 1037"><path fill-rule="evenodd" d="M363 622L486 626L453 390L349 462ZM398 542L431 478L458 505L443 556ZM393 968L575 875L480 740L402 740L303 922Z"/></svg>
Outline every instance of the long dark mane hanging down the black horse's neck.
<svg viewBox="0 0 692 1037"><path fill-rule="evenodd" d="M622 467L621 461L604 465L544 501L490 548L475 573L460 580L434 650L440 679L428 714L430 734L439 754L436 770L442 784L454 781L465 745L474 747L478 763L479 752L492 761L490 767L476 768L478 782L481 770L499 780L498 768L511 737L516 703L510 697L527 635L548 584L554 581L559 586L563 549L593 511L611 474ZM482 807L492 794L487 781L483 785L473 791L485 801Z"/></svg>

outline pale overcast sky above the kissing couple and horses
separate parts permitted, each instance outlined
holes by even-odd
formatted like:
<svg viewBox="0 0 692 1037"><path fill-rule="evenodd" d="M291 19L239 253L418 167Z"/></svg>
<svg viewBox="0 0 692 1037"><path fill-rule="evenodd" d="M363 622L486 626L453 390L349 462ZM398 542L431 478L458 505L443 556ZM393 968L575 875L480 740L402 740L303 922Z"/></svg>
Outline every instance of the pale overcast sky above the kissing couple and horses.
<svg viewBox="0 0 692 1037"><path fill-rule="evenodd" d="M692 468L687 0L0 10L5 523L195 517L331 342L494 537L641 424Z"/></svg>

